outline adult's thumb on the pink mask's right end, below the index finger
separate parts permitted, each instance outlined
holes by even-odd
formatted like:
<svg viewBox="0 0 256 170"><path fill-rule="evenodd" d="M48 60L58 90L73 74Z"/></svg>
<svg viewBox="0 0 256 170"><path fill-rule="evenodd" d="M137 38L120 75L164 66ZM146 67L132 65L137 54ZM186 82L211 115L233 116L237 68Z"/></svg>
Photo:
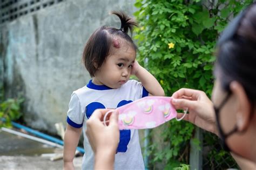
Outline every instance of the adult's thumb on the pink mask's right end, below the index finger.
<svg viewBox="0 0 256 170"><path fill-rule="evenodd" d="M188 108L188 110L193 110L198 101L188 100L188 99L172 99L171 103L176 109Z"/></svg>

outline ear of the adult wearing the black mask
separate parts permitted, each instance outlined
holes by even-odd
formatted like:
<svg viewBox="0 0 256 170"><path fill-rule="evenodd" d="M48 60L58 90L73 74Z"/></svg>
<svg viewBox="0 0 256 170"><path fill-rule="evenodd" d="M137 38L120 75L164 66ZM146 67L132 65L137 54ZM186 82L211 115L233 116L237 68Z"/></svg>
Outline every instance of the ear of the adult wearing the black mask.
<svg viewBox="0 0 256 170"><path fill-rule="evenodd" d="M247 97L244 87L238 81L232 81L230 90L235 98L235 117L237 119L238 131L247 129L250 123L251 103Z"/></svg>

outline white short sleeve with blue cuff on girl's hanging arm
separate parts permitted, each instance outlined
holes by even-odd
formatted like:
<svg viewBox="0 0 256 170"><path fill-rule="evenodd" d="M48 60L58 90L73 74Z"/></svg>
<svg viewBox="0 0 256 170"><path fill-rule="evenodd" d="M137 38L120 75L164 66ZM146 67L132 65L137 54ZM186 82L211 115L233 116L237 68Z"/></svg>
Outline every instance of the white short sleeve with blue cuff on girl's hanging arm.
<svg viewBox="0 0 256 170"><path fill-rule="evenodd" d="M80 128L83 126L83 120L84 114L80 105L79 98L77 97L76 93L72 93L66 121L70 126Z"/></svg>

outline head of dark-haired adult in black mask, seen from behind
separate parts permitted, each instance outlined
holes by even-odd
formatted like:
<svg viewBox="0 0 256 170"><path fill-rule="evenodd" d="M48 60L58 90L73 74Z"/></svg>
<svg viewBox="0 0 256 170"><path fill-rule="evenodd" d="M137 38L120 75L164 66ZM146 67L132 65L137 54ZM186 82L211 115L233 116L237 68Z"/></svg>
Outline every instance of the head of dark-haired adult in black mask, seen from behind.
<svg viewBox="0 0 256 170"><path fill-rule="evenodd" d="M227 148L256 161L256 3L242 11L217 44L212 101Z"/></svg>

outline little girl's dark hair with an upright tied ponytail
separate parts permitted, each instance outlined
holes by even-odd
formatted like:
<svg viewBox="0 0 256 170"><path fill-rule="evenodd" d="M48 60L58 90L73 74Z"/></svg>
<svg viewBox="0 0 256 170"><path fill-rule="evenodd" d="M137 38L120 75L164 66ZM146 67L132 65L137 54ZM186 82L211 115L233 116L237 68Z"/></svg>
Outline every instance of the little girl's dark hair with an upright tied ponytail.
<svg viewBox="0 0 256 170"><path fill-rule="evenodd" d="M118 36L126 40L126 42L133 47L134 51L137 51L137 46L127 33L130 30L132 36L134 26L137 26L138 24L123 12L112 11L111 14L119 17L121 21L120 29L101 26L92 33L84 47L82 62L91 77L95 75L97 69L102 66L106 57L109 56L110 47L114 37Z"/></svg>

